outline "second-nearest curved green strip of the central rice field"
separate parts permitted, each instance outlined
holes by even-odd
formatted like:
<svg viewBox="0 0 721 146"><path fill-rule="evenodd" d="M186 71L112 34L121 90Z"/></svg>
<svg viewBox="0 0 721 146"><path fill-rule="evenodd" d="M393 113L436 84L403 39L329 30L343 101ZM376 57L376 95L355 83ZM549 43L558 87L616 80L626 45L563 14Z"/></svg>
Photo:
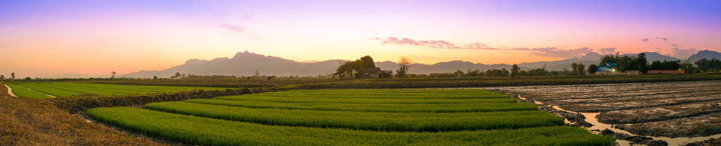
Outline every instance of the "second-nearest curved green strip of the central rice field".
<svg viewBox="0 0 721 146"><path fill-rule="evenodd" d="M263 125L332 127L351 130L439 132L516 129L563 125L563 118L549 112L391 113L297 109L254 109L190 102L156 102L148 109Z"/></svg>

